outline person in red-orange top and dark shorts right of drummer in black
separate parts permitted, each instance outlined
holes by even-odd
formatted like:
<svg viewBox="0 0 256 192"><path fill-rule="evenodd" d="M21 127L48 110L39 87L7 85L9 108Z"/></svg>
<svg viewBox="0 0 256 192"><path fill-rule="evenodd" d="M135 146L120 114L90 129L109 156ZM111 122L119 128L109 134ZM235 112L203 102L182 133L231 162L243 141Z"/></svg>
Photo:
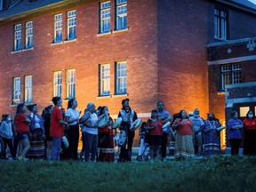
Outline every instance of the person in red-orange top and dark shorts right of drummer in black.
<svg viewBox="0 0 256 192"><path fill-rule="evenodd" d="M162 121L161 119L158 119L158 113L156 109L153 109L151 111L151 118L147 121L147 128L149 130L149 148L150 148L150 159L151 162L156 159L156 157L159 155L159 147L161 146L162 142ZM147 129L146 128L146 129Z"/></svg>

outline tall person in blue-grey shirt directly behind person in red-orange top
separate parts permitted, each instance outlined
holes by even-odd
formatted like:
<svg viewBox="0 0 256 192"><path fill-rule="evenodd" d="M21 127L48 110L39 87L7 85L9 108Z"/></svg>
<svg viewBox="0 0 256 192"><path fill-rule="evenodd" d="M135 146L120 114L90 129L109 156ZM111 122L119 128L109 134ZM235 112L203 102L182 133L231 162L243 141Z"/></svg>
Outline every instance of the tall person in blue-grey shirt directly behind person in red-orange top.
<svg viewBox="0 0 256 192"><path fill-rule="evenodd" d="M157 114L158 114L158 118L162 120L162 124L166 124L172 121L171 114L168 111L164 110L163 101L157 102ZM166 129L163 130L163 136L162 136L161 159L164 162L166 161L166 147L167 147L169 133L170 133L170 125L168 125Z"/></svg>

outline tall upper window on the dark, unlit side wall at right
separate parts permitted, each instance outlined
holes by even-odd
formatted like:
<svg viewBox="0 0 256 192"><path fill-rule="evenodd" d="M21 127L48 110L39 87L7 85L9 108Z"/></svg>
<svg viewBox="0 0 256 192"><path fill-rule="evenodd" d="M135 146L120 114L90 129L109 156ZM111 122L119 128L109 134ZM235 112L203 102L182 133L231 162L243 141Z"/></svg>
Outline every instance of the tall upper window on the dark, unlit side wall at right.
<svg viewBox="0 0 256 192"><path fill-rule="evenodd" d="M228 39L228 12L214 9L214 37Z"/></svg>

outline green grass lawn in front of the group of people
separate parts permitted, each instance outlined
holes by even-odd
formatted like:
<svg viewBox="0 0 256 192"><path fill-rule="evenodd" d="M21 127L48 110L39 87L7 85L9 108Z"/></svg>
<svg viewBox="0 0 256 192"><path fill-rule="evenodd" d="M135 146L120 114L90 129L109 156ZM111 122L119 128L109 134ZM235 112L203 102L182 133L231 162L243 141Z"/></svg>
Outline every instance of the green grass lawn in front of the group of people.
<svg viewBox="0 0 256 192"><path fill-rule="evenodd" d="M0 162L1 191L256 191L256 158L167 163Z"/></svg>

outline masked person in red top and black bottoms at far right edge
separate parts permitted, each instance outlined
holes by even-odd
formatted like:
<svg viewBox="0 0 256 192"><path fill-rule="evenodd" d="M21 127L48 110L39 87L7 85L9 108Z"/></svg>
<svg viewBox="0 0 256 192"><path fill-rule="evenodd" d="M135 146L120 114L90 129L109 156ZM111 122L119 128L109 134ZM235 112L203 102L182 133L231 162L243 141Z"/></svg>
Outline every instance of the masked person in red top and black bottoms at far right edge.
<svg viewBox="0 0 256 192"><path fill-rule="evenodd" d="M256 156L256 119L251 110L247 112L244 124L244 156Z"/></svg>

